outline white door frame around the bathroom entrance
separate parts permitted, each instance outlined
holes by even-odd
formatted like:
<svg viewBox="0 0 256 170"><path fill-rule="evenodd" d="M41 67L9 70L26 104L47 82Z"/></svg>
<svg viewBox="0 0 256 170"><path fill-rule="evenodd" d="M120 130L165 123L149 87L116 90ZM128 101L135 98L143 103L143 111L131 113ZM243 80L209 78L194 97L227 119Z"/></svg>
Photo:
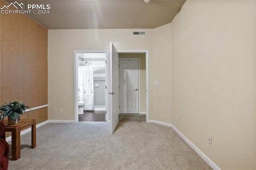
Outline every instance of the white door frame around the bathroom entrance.
<svg viewBox="0 0 256 170"><path fill-rule="evenodd" d="M75 92L75 95L74 95L74 120L75 120L75 123L78 122L78 54L79 53L105 53L106 54L106 60L107 60L107 57L108 57L108 50L75 50L74 51L74 75L75 75L75 79L74 79L74 92ZM106 64L106 69L107 69L108 65ZM107 70L106 70L107 71ZM107 78L108 78L108 73L106 72L106 85L107 85ZM106 94L105 96L107 97L107 90L106 90ZM107 100L107 98L106 98ZM106 103L106 107L107 107L107 104L108 102L105 100L105 103ZM107 108L106 108L107 109ZM106 119L108 118L108 112L106 113Z"/></svg>

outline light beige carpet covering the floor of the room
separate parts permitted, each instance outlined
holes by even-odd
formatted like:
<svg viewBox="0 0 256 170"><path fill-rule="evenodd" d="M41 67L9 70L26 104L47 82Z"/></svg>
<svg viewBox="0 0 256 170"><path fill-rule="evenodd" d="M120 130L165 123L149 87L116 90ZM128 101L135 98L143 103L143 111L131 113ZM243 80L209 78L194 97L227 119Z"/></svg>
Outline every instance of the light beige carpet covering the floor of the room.
<svg viewBox="0 0 256 170"><path fill-rule="evenodd" d="M21 136L21 158L8 170L206 170L210 166L170 127L120 122L48 123ZM11 144L9 142L9 144ZM11 151L10 151L11 154Z"/></svg>

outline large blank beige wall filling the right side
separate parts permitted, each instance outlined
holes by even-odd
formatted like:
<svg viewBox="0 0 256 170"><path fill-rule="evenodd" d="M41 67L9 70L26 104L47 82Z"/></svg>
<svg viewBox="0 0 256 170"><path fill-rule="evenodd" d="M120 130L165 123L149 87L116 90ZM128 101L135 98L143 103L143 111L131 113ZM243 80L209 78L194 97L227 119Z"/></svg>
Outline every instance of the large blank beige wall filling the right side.
<svg viewBox="0 0 256 170"><path fill-rule="evenodd" d="M171 32L172 124L221 169L256 169L256 1L188 0Z"/></svg>

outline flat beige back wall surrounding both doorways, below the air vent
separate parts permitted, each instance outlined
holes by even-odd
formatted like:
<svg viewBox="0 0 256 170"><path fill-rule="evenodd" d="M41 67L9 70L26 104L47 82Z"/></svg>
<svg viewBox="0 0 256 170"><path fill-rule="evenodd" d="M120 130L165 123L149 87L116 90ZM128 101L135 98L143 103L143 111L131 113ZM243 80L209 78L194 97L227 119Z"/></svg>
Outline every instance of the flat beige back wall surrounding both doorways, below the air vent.
<svg viewBox="0 0 256 170"><path fill-rule="evenodd" d="M133 36L132 31L48 30L49 120L74 120L74 50L110 50L110 42L118 50L149 50L149 117L153 117L153 30L146 30L146 36Z"/></svg>

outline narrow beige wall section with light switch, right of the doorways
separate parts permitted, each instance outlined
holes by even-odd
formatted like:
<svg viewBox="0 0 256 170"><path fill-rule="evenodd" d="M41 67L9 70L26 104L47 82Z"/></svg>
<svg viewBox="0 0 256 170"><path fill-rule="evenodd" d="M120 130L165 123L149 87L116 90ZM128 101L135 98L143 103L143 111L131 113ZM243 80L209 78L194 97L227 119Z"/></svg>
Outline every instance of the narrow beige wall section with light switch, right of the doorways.
<svg viewBox="0 0 256 170"><path fill-rule="evenodd" d="M153 42L154 117L150 120L172 123L171 117L171 24L154 29ZM153 82L154 83L154 82Z"/></svg>

